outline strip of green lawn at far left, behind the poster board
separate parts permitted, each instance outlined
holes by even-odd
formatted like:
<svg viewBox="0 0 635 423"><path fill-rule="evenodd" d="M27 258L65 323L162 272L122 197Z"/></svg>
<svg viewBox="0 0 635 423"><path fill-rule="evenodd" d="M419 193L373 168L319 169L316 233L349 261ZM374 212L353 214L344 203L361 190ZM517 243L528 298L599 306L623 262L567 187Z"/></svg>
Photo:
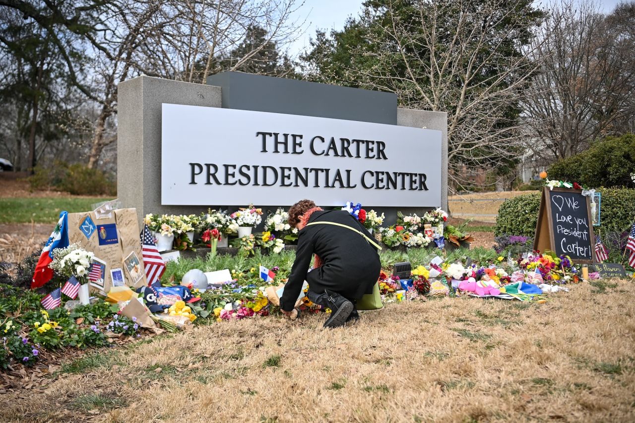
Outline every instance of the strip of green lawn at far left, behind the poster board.
<svg viewBox="0 0 635 423"><path fill-rule="evenodd" d="M57 222L60 211L69 213L93 210L92 205L107 201L102 197L29 197L29 198L0 198L0 223L36 223Z"/></svg>

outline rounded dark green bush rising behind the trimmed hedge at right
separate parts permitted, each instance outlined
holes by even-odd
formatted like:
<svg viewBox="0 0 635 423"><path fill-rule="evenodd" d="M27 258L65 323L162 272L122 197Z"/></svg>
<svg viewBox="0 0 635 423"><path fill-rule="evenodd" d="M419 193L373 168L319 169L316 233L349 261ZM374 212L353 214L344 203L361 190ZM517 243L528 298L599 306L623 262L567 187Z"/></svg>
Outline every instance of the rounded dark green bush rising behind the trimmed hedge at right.
<svg viewBox="0 0 635 423"><path fill-rule="evenodd" d="M606 137L588 150L552 164L549 179L568 180L590 187L633 187L635 135Z"/></svg>

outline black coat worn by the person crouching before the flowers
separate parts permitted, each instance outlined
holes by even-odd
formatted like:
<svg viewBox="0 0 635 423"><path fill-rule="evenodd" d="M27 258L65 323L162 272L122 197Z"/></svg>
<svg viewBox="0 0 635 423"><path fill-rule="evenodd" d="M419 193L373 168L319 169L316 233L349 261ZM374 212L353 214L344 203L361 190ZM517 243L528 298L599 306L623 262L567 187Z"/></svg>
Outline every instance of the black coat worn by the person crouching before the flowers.
<svg viewBox="0 0 635 423"><path fill-rule="evenodd" d="M314 211L308 223L320 221L350 226L372 239L348 211ZM313 254L318 255L322 265L307 273ZM293 309L305 280L313 292L323 293L328 289L348 299L359 299L373 292L380 270L377 248L358 232L329 224L307 225L298 236L295 262L284 286L280 307L285 311Z"/></svg>

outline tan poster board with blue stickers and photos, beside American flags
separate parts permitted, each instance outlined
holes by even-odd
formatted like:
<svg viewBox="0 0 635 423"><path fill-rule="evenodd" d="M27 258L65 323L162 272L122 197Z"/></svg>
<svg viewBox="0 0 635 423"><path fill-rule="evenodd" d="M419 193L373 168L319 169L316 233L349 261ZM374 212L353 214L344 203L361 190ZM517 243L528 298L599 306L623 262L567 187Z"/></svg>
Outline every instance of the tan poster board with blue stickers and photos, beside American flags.
<svg viewBox="0 0 635 423"><path fill-rule="evenodd" d="M137 209L121 208L109 210L108 213L69 213L69 243L77 243L86 251L95 253L95 257L104 263L100 277L90 283L93 292L109 292L112 286L121 286L121 282L131 288L147 285ZM133 254L134 253L134 254ZM124 259L136 256L141 269L140 275L133 279L126 269ZM130 260L129 260L130 262ZM113 281L113 274L116 281ZM103 281L101 280L103 278ZM89 275L90 279L90 275Z"/></svg>

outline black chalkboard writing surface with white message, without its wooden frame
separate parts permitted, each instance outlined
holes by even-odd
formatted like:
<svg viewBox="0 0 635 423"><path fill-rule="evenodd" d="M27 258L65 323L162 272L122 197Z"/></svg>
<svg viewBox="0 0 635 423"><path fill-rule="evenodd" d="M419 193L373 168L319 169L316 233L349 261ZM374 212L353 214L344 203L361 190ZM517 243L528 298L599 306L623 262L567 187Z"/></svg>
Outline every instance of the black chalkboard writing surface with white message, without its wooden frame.
<svg viewBox="0 0 635 423"><path fill-rule="evenodd" d="M549 191L554 252L575 260L593 260L587 197L578 191Z"/></svg>

